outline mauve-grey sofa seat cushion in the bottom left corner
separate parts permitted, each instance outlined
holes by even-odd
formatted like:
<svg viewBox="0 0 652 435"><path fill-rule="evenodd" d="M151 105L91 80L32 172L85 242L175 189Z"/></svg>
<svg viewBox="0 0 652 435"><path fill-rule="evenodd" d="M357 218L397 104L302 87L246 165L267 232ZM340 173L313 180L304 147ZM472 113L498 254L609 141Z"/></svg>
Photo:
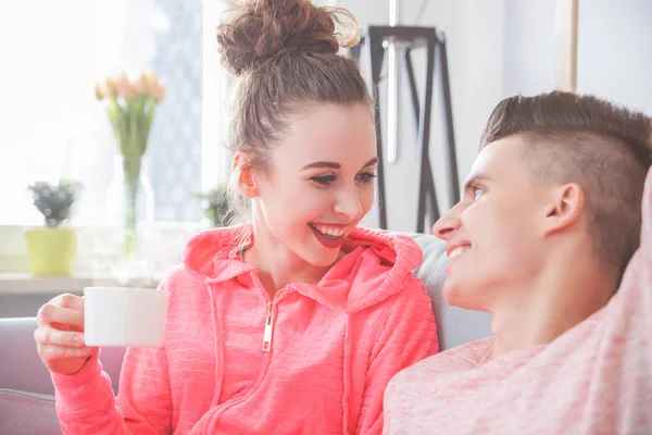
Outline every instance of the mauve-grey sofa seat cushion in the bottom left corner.
<svg viewBox="0 0 652 435"><path fill-rule="evenodd" d="M0 434L60 435L54 397L0 388Z"/></svg>

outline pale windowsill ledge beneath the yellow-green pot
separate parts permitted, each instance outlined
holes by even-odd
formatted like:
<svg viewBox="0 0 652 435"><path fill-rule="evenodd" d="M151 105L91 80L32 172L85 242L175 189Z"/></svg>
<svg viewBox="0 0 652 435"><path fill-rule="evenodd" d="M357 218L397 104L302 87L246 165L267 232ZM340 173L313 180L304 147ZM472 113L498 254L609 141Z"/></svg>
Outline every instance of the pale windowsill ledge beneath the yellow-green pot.
<svg viewBox="0 0 652 435"><path fill-rule="evenodd" d="M28 273L0 273L0 295L62 293L82 294L85 287L156 288L159 279L131 278L127 283L109 275L77 273L72 276L33 276Z"/></svg>

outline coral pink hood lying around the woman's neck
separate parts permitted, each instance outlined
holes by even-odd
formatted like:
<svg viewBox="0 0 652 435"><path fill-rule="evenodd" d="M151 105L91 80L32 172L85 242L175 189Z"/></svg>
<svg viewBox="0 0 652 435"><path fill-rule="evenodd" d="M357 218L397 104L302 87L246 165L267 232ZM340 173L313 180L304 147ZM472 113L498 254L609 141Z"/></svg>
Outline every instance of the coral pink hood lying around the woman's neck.
<svg viewBox="0 0 652 435"><path fill-rule="evenodd" d="M184 266L204 284L255 273L255 268L239 258L252 244L255 240L250 224L209 229L190 239ZM342 249L348 253L318 283L291 283L288 287L334 310L353 313L404 288L423 260L422 250L412 238L380 229L355 228Z"/></svg>

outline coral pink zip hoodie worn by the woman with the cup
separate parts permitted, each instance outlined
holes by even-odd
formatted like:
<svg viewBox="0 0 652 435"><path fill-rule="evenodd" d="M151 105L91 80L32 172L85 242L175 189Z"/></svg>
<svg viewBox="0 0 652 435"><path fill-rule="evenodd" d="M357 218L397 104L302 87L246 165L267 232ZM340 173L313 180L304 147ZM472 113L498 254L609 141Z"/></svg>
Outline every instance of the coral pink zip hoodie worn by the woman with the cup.
<svg viewBox="0 0 652 435"><path fill-rule="evenodd" d="M381 433L389 380L437 351L430 300L412 274L418 246L358 228L318 284L269 300L233 253L241 233L190 240L161 286L165 346L127 350L116 399L97 357L52 374L65 434Z"/></svg>

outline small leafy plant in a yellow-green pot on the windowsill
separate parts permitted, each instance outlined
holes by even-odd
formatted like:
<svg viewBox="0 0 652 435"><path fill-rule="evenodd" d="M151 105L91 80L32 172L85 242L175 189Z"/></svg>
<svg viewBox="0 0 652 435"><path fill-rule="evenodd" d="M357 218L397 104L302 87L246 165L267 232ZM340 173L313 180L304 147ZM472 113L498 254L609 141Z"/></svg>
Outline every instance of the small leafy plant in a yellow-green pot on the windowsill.
<svg viewBox="0 0 652 435"><path fill-rule="evenodd" d="M43 215L45 227L25 232L33 275L70 275L77 250L74 229L63 227L70 217L80 184L62 179L53 185L35 182L27 188L34 206Z"/></svg>

